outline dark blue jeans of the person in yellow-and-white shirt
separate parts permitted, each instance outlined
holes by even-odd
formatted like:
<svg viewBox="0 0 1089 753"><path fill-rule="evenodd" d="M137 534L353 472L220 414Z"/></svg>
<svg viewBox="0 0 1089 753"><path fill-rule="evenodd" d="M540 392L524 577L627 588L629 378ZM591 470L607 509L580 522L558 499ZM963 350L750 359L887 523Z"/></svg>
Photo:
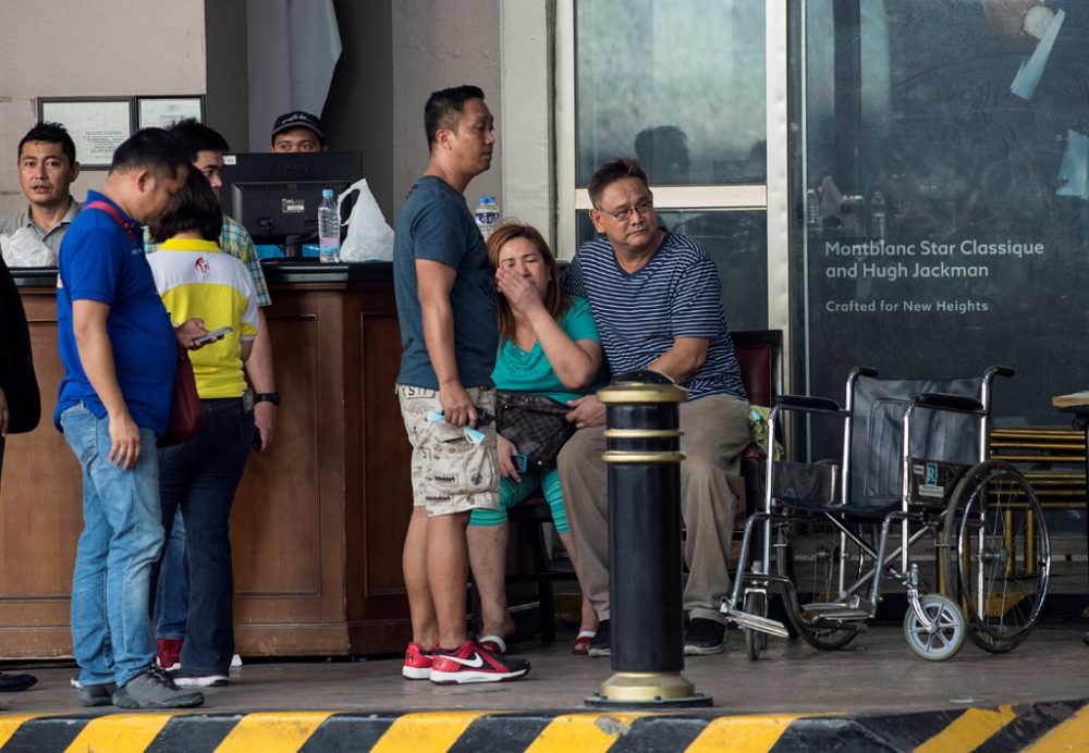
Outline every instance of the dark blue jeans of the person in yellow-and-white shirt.
<svg viewBox="0 0 1089 753"><path fill-rule="evenodd" d="M189 612L182 668L225 675L234 656L231 505L254 443L254 413L241 397L200 403L200 433L159 450L159 492L163 528L172 528L179 507L185 518Z"/></svg>

